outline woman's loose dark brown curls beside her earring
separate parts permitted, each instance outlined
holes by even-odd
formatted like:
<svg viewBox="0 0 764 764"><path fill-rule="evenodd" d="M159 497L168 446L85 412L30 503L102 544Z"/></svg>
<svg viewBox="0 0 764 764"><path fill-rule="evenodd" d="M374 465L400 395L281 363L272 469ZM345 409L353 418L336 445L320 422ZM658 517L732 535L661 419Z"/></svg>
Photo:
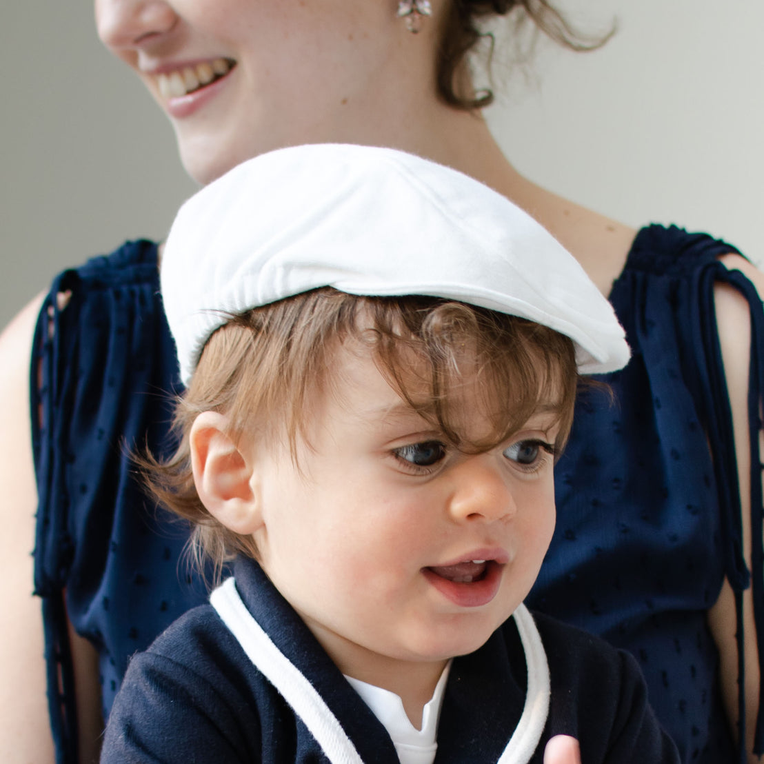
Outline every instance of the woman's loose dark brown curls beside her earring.
<svg viewBox="0 0 764 764"><path fill-rule="evenodd" d="M455 108L471 111L494 101L490 89L474 91L471 83L465 88L465 58L480 40L490 42L488 64L494 50L494 36L481 30L481 22L491 16L512 16L520 25L533 21L536 28L552 40L571 50L594 50L604 45L613 34L592 36L576 30L557 8L546 0L447 0L437 61L439 96Z"/></svg>

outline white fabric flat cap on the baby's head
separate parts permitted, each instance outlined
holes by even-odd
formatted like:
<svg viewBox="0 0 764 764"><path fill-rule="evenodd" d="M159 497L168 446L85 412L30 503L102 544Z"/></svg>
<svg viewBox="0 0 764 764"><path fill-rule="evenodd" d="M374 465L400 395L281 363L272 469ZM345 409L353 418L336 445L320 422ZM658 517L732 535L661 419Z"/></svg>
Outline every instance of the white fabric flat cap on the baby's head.
<svg viewBox="0 0 764 764"><path fill-rule="evenodd" d="M320 286L522 316L570 337L583 373L630 355L610 303L533 218L456 170L388 148L315 144L240 164L178 212L161 283L185 384L231 313Z"/></svg>

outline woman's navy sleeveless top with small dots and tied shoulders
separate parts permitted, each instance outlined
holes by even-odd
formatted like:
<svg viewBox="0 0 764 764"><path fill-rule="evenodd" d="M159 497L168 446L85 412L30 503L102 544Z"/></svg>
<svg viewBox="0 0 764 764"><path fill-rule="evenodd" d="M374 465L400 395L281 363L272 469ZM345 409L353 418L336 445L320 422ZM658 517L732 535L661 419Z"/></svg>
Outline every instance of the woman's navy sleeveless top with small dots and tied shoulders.
<svg viewBox="0 0 764 764"><path fill-rule="evenodd" d="M603 377L614 400L601 390L578 400L556 468L555 537L528 599L630 650L682 760L725 764L745 759L721 707L706 611L725 576L740 602L749 572L714 319L718 281L751 306L753 567L764 565L764 313L753 285L717 262L730 251L679 228L639 231L610 295L633 358ZM59 309L62 292L71 296ZM202 576L183 558L188 527L144 495L130 458L145 446L160 456L173 452L170 420L180 391L155 244L128 242L57 277L37 325L31 393L35 590L43 600L58 762L76 762L77 746L67 616L99 652L106 717L129 657L206 600ZM764 654L760 576L753 586ZM742 663L739 672L744 678Z"/></svg>

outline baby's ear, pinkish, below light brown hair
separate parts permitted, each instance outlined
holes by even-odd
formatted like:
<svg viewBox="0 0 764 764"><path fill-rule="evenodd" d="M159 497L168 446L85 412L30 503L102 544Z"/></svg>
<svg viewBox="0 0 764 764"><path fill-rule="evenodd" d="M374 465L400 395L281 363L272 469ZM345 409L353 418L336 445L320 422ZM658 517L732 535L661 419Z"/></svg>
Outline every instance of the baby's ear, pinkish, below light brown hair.
<svg viewBox="0 0 764 764"><path fill-rule="evenodd" d="M204 411L191 426L190 448L196 492L226 528L251 536L262 525L260 497L247 449L229 435L228 419Z"/></svg>

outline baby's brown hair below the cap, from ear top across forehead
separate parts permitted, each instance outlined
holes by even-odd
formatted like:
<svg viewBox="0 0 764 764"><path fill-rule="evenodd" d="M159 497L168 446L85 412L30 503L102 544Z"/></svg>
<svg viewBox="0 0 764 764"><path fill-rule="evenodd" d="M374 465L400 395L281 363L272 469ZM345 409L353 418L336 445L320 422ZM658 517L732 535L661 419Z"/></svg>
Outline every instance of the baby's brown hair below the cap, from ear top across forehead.
<svg viewBox="0 0 764 764"><path fill-rule="evenodd" d="M351 349L348 340L371 352L400 397L465 451L493 448L539 410L558 418L558 441L567 437L578 383L571 340L517 316L435 297L324 287L256 308L213 335L191 387L203 388L199 398L214 400L239 432L278 422L293 447L298 435L306 438L311 403L341 383L332 361L342 345ZM453 406L458 388L473 381L478 406L496 425L481 442L460 434Z"/></svg>

